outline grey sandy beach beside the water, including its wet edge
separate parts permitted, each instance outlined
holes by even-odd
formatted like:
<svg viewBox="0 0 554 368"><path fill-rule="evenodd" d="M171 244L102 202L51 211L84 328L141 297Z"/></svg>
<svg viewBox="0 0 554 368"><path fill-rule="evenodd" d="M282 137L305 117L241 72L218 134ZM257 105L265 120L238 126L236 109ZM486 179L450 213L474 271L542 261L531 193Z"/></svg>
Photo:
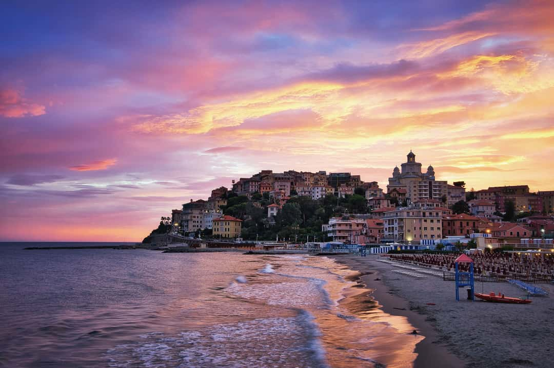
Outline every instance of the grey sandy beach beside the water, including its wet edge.
<svg viewBox="0 0 554 368"><path fill-rule="evenodd" d="M415 368L422 367L552 367L554 365L554 284L540 284L548 297L531 297L531 304L499 304L466 300L453 281L425 275L414 278L392 272L400 267L379 262L379 256L332 256L361 272L360 281L384 312L405 316L425 337L416 346ZM380 279L380 280L376 280ZM525 297L509 283L475 283L475 292L502 292Z"/></svg>

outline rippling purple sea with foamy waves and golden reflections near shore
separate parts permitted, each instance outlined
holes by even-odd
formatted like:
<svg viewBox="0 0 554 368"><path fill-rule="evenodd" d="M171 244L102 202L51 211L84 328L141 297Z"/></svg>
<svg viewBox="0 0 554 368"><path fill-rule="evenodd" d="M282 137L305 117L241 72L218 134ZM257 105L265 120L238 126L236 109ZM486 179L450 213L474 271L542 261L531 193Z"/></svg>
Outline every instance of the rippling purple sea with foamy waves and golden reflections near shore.
<svg viewBox="0 0 554 368"><path fill-rule="evenodd" d="M121 244L121 243L117 243ZM0 367L411 367L406 318L322 256L0 243Z"/></svg>

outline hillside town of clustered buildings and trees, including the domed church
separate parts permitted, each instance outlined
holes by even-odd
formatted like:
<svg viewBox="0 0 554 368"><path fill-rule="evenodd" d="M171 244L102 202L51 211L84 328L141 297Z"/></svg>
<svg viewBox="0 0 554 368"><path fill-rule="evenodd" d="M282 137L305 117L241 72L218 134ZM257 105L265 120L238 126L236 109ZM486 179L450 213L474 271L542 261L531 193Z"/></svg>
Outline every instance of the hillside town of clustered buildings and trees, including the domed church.
<svg viewBox="0 0 554 368"><path fill-rule="evenodd" d="M553 248L554 190L527 185L466 191L437 180L416 154L394 167L386 190L350 172L262 170L191 199L162 216L154 232L188 238L335 242L403 249L454 244Z"/></svg>

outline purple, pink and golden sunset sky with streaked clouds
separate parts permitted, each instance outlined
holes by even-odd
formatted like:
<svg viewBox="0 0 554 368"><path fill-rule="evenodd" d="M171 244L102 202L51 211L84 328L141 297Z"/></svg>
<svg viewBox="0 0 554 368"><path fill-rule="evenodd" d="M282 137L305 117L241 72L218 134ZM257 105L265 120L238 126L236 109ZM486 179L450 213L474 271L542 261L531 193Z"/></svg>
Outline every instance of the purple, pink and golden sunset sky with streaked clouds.
<svg viewBox="0 0 554 368"><path fill-rule="evenodd" d="M468 189L554 190L553 19L552 1L2 2L0 240L140 241L264 169L384 188L410 149Z"/></svg>

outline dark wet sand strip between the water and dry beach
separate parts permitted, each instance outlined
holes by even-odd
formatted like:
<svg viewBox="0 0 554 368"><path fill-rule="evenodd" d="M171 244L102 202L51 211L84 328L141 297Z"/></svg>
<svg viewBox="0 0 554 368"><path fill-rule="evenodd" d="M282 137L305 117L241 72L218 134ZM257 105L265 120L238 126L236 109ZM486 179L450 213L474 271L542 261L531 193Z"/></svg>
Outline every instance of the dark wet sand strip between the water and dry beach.
<svg viewBox="0 0 554 368"><path fill-rule="evenodd" d="M392 316L406 317L408 322L417 330L417 333L424 337L422 341L416 344L414 350L414 353L417 354L413 364L414 368L436 366L439 361L442 368L464 367L464 362L458 356L450 352L445 346L437 343L438 333L427 321L428 317L411 309L407 299L396 295L391 291L391 287L384 283L383 278L386 276L383 275L381 270L377 270L376 267L369 264L362 265L356 262L361 258L358 256L333 255L329 257L339 264L350 267L353 271L360 272L358 282L373 290L371 297L378 302L379 308ZM371 274L368 272L371 272ZM380 278L380 280L376 280L376 278Z"/></svg>

